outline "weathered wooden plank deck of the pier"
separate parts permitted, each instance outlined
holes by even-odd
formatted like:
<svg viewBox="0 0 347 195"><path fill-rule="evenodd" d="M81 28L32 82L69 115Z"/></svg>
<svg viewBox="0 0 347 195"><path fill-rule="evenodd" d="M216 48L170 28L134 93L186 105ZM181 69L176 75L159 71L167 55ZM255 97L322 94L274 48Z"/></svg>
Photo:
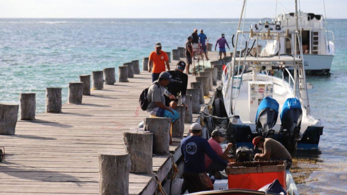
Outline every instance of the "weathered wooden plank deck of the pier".
<svg viewBox="0 0 347 195"><path fill-rule="evenodd" d="M217 59L216 53L209 54ZM171 70L176 63L171 61ZM139 107L138 96L150 85L151 74L142 71L128 80L83 95L82 104L63 104L62 113L18 120L15 135L0 135L6 154L0 163L0 194L99 194L98 153L124 152L122 132L137 128L149 116ZM195 77L189 75L188 82L195 82ZM198 116L193 114L193 121ZM185 135L189 126L185 124ZM180 139L174 139L170 146L175 161L181 156L179 145ZM171 168L170 155L154 155L153 171L161 181ZM153 194L153 178L130 173L129 194Z"/></svg>

